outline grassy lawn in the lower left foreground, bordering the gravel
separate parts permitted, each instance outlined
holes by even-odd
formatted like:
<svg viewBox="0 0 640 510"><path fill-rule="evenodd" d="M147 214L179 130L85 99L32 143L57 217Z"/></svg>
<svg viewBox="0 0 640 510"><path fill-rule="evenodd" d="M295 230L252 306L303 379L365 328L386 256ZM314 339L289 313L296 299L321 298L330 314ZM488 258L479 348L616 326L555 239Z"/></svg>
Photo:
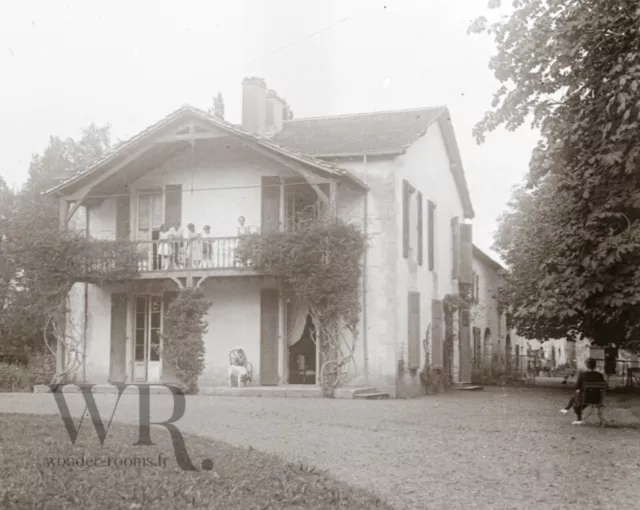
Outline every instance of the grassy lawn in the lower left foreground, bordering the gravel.
<svg viewBox="0 0 640 510"><path fill-rule="evenodd" d="M187 436L196 467L213 461L208 471L187 472L166 430L152 429L154 446L133 446L137 438L137 427L113 424L101 447L85 421L72 446L57 415L0 414L0 508L391 508L313 468L251 448ZM83 458L103 465L69 465ZM141 459L155 465L141 466Z"/></svg>

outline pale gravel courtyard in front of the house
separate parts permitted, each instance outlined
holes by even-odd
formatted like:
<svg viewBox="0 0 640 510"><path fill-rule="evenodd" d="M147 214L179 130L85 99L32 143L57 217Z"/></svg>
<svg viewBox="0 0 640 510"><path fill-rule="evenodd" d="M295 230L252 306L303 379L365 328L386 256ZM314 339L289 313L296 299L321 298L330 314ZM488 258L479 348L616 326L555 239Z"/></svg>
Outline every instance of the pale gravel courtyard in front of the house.
<svg viewBox="0 0 640 510"><path fill-rule="evenodd" d="M80 416L82 396L65 396ZM574 427L559 414L567 399L562 391L510 388L405 401L196 396L177 425L328 469L399 509L635 508L638 420L616 407L607 416L623 426ZM108 420L115 396L96 400ZM168 419L171 409L167 396L152 395L152 420ZM50 394L0 394L0 412L57 407ZM114 420L137 419L137 396L124 395ZM594 420L595 413L587 421Z"/></svg>

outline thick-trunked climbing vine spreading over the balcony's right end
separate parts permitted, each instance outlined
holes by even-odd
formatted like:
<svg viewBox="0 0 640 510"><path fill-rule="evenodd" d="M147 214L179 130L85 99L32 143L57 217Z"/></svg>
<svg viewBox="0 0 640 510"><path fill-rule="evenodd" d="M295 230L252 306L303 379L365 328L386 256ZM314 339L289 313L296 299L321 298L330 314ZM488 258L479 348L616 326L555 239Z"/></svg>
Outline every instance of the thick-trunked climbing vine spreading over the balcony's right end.
<svg viewBox="0 0 640 510"><path fill-rule="evenodd" d="M308 218L291 232L244 237L237 255L289 286L309 305L319 342L320 382L327 397L344 383L361 311L361 230L339 219Z"/></svg>

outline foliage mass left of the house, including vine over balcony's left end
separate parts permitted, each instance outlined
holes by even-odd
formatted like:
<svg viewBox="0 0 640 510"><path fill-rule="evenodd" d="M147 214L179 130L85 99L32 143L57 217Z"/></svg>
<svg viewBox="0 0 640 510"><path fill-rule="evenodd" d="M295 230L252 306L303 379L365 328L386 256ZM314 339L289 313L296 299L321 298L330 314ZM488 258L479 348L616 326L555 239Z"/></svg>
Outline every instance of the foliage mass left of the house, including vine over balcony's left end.
<svg viewBox="0 0 640 510"><path fill-rule="evenodd" d="M72 285L126 280L137 273L139 255L131 246L61 231L57 199L41 194L61 175L91 165L109 147L108 126L88 126L79 141L51 137L43 154L33 156L24 189L6 201L8 206L0 204L2 354L26 358L49 352L47 346L54 351L58 341L72 344L72 325L66 324ZM81 359L71 344L66 354L77 365Z"/></svg>

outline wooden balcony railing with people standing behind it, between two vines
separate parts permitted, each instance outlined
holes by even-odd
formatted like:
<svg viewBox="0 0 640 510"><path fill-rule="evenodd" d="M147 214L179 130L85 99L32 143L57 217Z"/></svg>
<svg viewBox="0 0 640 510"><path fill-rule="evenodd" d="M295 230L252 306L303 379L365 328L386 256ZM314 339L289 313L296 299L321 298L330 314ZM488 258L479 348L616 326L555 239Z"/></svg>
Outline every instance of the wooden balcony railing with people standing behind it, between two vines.
<svg viewBox="0 0 640 510"><path fill-rule="evenodd" d="M142 259L141 273L194 269L249 268L236 257L239 237L135 241Z"/></svg>

